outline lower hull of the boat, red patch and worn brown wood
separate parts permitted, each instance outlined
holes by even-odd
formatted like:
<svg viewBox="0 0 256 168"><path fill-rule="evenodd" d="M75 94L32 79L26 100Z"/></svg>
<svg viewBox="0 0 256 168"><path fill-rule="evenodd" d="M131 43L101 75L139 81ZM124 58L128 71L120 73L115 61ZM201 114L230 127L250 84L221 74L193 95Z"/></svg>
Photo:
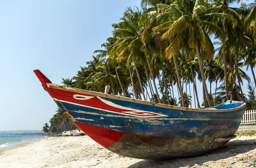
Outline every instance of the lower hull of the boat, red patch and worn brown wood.
<svg viewBox="0 0 256 168"><path fill-rule="evenodd" d="M97 143L116 154L138 159L173 159L205 154L226 144L234 136L214 141L216 136L147 136L122 133L95 125L74 122Z"/></svg>

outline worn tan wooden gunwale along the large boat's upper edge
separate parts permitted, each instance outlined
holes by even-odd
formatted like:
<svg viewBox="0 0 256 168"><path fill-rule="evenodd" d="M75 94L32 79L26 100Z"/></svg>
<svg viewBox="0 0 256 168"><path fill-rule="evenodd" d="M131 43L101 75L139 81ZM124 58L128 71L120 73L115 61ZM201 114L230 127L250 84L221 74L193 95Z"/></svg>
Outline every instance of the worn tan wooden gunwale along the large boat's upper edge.
<svg viewBox="0 0 256 168"><path fill-rule="evenodd" d="M189 112L206 112L206 113L224 113L224 112L233 112L236 110L240 110L246 106L246 103L243 102L241 106L235 107L235 108L230 108L230 109L197 109L197 108L189 108L189 107L178 107L178 106L173 106L173 105L168 105L168 104L161 104L161 103L154 103L151 101L145 101L145 100L139 100L135 98L128 98L128 97L123 97L123 96L116 96L116 95L109 95L106 93L100 93L100 92L95 92L95 91L90 91L90 90L83 90L83 89L77 89L73 87L66 87L66 86L61 86L58 84L52 84L52 83L46 83L49 88L52 89L58 89L58 90L66 90L74 93L82 93L86 95L92 95L92 96L99 96L99 97L105 97L105 98L111 98L114 100L121 100L121 101L128 101L132 103L138 103L138 104L144 104L144 105L149 105L149 106L155 106L155 107L161 107L161 108L166 108L170 110L182 110L182 111L189 111ZM61 101L61 100L59 100Z"/></svg>

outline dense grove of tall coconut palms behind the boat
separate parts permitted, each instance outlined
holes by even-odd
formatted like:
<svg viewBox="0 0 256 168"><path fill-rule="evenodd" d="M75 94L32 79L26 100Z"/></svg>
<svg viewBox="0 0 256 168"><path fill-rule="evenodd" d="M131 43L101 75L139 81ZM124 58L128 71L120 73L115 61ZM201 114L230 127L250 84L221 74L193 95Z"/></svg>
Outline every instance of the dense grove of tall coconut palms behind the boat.
<svg viewBox="0 0 256 168"><path fill-rule="evenodd" d="M256 1L142 0L141 7L128 7L120 17L112 24L113 36L62 84L97 92L110 85L112 95L182 107L227 100L254 106ZM244 81L249 95L242 90Z"/></svg>

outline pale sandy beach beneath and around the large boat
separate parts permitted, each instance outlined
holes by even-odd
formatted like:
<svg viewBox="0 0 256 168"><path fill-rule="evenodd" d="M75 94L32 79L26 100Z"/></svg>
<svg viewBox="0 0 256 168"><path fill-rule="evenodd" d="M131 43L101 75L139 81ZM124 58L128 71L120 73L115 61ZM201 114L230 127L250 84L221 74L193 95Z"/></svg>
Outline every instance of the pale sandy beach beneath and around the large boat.
<svg viewBox="0 0 256 168"><path fill-rule="evenodd" d="M204 156L161 161L119 156L88 136L50 137L0 150L0 168L246 168L255 159L256 136L238 137Z"/></svg>

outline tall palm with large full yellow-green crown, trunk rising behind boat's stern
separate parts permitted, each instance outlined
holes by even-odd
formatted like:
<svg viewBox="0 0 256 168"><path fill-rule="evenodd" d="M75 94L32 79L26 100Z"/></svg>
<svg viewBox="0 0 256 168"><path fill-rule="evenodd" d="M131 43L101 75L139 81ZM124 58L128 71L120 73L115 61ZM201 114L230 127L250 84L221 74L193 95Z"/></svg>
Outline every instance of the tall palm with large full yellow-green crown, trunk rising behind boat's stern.
<svg viewBox="0 0 256 168"><path fill-rule="evenodd" d="M166 30L162 38L171 41L166 48L166 53L169 58L174 57L176 64L176 55L184 44L188 43L190 48L194 48L198 56L204 90L208 93L202 56L212 58L214 52L214 47L208 34L216 32L221 34L221 29L209 22L209 20L215 17L223 17L225 14L219 13L222 11L221 8L213 8L209 4L205 2L199 3L199 1L181 0L178 3L175 1L171 5L158 4L157 6L162 11L163 16L167 12L169 16L172 16L172 20L168 17L164 23L154 28L155 31ZM183 8L183 6L188 7ZM177 66L175 65L175 67ZM208 103L210 103L209 95L206 94L206 97ZM210 104L208 105L210 106Z"/></svg>

